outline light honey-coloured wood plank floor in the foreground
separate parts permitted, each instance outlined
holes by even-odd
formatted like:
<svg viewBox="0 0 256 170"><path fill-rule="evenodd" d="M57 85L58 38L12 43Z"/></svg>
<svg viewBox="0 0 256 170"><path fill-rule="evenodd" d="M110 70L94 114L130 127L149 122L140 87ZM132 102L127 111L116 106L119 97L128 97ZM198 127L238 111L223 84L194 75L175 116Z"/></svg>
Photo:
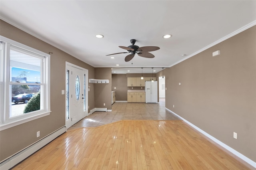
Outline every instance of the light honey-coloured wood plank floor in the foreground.
<svg viewBox="0 0 256 170"><path fill-rule="evenodd" d="M70 130L13 169L249 170L254 168L208 140L184 121L122 120L100 127Z"/></svg>

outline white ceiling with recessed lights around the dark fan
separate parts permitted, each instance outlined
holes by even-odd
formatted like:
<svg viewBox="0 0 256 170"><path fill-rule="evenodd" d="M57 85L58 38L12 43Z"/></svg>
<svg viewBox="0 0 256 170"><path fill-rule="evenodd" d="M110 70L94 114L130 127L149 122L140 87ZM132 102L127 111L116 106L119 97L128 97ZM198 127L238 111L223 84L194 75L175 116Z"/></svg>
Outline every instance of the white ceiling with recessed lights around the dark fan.
<svg viewBox="0 0 256 170"><path fill-rule="evenodd" d="M149 67L143 73L152 73L151 67L162 71L255 23L256 1L1 0L0 18L93 67L112 67L116 73ZM165 34L172 37L162 38ZM160 49L151 52L152 59L136 54L129 62L126 53L106 56L126 52L118 46L131 45L130 39Z"/></svg>

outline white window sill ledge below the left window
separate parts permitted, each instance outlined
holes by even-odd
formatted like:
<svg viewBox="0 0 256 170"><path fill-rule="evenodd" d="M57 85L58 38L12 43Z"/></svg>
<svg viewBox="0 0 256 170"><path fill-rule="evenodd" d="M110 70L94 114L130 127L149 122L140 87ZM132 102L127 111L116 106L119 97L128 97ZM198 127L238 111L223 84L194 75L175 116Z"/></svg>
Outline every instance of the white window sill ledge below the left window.
<svg viewBox="0 0 256 170"><path fill-rule="evenodd" d="M50 115L50 113L51 113L51 111L48 111L48 112L45 112L45 113L41 113L41 114L33 115L31 117L20 119L18 121L13 121L13 122L10 122L10 123L1 124L0 125L0 131L6 130L6 129L11 128L11 127L15 127L15 126L21 125L23 123L27 123L29 121L33 121L33 120L39 119L41 117L48 116L48 115Z"/></svg>

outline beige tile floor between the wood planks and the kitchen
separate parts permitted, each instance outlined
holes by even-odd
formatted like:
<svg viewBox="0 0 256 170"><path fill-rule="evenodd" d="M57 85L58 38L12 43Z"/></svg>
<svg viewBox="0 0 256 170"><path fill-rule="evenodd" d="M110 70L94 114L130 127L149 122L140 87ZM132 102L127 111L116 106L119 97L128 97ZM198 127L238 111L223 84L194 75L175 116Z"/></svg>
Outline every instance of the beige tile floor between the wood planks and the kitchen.
<svg viewBox="0 0 256 170"><path fill-rule="evenodd" d="M85 117L68 130L82 127L99 127L121 120L180 120L176 115L165 109L165 100L157 104L127 103L116 101L111 112L94 112Z"/></svg>

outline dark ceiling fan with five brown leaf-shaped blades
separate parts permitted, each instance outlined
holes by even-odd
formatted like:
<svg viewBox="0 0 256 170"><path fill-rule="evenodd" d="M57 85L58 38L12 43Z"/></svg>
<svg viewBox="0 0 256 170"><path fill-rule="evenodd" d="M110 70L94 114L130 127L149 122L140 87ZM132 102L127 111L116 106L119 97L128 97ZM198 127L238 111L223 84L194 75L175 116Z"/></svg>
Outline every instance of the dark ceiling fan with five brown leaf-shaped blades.
<svg viewBox="0 0 256 170"><path fill-rule="evenodd" d="M135 53L137 53L140 57L154 58L155 56L152 53L149 53L149 51L156 51L156 50L160 49L159 47L156 47L156 46L139 47L137 45L134 45L134 43L136 42L136 40L134 40L134 39L130 40L130 42L132 43L132 45L130 45L128 47L118 46L118 47L120 47L122 49L126 49L128 51L128 52L122 52L122 53L130 53L124 59L124 61L126 61L126 62L130 61L134 57ZM121 53L114 53L114 54L121 54ZM108 55L114 55L114 54L108 54Z"/></svg>

